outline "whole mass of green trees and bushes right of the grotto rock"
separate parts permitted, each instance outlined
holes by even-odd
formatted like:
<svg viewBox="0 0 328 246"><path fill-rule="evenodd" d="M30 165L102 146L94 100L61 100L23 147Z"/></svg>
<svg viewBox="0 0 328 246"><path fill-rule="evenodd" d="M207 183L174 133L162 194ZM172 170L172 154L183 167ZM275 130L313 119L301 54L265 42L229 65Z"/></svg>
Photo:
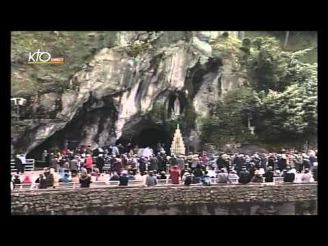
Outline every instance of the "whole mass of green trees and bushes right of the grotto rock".
<svg viewBox="0 0 328 246"><path fill-rule="evenodd" d="M244 51L249 40L244 39ZM251 88L232 90L202 121L202 139L219 146L230 142L303 143L316 137L317 64L301 57L310 49L283 51L274 38L251 40L243 55ZM256 126L249 134L247 118Z"/></svg>

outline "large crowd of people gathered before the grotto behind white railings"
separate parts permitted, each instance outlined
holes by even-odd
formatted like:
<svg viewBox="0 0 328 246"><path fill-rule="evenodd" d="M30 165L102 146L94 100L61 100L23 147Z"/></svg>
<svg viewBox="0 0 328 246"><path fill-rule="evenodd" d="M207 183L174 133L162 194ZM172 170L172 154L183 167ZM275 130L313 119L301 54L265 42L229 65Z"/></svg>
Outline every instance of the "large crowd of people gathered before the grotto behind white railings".
<svg viewBox="0 0 328 246"><path fill-rule="evenodd" d="M16 159L19 159L17 156ZM90 187L92 176L96 180L116 180L121 186L128 180L143 180L146 186L154 186L157 180L172 180L172 184L192 183L210 185L216 178L218 183L238 180L249 182L273 182L274 177L283 177L284 182L317 181L317 150L308 153L282 150L279 153L219 153L201 152L188 155L165 153L161 143L156 148L133 148L131 143L92 150L91 146L80 146L74 150L44 150L42 154L44 172L35 181L40 189L55 188L59 182L79 182L81 187ZM21 161L15 160L17 174L22 172ZM59 169L68 170L59 175ZM24 172L24 170L23 170ZM109 177L106 177L105 175ZM32 180L16 175L12 185Z"/></svg>

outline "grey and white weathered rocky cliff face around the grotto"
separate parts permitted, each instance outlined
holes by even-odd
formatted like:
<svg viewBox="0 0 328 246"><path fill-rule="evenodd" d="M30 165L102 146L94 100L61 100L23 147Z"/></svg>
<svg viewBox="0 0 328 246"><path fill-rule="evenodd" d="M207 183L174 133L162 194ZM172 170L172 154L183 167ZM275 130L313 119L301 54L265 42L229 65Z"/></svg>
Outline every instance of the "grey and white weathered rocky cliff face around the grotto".
<svg viewBox="0 0 328 246"><path fill-rule="evenodd" d="M65 139L96 148L149 126L161 128L147 118L155 102L163 105L168 121L176 98L182 118L187 106L199 116L208 114L211 102L246 81L238 54L215 48L221 34L118 32L116 45L98 51L70 79L69 90L27 97L20 122L12 118L12 152L31 152L47 143L62 146ZM199 116L187 133L196 143Z"/></svg>

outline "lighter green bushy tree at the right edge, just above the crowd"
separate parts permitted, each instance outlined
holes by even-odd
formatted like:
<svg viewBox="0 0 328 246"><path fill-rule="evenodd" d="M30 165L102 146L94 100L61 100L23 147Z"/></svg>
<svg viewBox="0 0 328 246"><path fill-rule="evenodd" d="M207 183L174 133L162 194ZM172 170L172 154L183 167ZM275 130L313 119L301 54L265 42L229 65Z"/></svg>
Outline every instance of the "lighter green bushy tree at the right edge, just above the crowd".
<svg viewBox="0 0 328 246"><path fill-rule="evenodd" d="M318 127L316 81L270 90L262 100L259 133L267 141L309 141Z"/></svg>

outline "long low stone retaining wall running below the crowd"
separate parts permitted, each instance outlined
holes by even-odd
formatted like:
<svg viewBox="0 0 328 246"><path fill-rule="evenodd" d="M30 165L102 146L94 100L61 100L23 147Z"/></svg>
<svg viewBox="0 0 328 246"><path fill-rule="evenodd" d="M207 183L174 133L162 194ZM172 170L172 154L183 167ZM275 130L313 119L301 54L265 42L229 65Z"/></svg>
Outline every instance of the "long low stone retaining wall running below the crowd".
<svg viewBox="0 0 328 246"><path fill-rule="evenodd" d="M317 184L12 192L12 215L316 215Z"/></svg>

